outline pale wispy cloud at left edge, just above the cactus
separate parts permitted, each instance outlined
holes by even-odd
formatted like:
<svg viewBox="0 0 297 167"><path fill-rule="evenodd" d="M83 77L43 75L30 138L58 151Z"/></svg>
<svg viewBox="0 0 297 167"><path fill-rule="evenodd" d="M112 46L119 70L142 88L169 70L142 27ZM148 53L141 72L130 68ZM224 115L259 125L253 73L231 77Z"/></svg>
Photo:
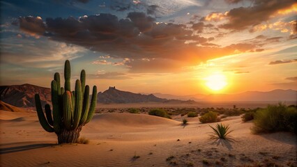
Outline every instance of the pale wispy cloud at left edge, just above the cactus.
<svg viewBox="0 0 297 167"><path fill-rule="evenodd" d="M86 51L83 47L54 42L47 39L6 38L1 41L1 63L19 67L60 67L67 59L73 60Z"/></svg>

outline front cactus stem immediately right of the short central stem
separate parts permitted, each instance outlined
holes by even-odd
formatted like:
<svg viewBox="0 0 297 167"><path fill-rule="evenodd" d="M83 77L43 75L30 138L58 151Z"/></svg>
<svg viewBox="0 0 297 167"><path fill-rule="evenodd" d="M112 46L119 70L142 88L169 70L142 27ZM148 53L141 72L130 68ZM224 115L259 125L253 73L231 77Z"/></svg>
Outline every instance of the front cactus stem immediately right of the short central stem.
<svg viewBox="0 0 297 167"><path fill-rule="evenodd" d="M75 109L73 112L73 129L79 125L80 117L82 116L82 86L77 79L75 82Z"/></svg>

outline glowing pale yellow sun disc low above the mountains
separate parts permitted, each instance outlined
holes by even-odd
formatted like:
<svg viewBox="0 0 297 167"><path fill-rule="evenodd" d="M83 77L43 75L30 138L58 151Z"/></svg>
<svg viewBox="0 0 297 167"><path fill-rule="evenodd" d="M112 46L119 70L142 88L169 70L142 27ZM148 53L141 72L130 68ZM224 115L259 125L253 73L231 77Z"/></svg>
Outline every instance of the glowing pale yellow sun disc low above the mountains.
<svg viewBox="0 0 297 167"><path fill-rule="evenodd" d="M212 74L206 77L206 86L211 90L222 90L225 86L227 86L227 79L224 74Z"/></svg>

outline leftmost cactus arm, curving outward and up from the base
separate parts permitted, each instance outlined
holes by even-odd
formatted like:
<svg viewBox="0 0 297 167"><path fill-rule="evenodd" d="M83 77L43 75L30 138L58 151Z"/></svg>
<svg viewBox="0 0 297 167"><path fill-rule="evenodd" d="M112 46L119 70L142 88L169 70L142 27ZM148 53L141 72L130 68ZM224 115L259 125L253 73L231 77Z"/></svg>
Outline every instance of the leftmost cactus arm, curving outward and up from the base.
<svg viewBox="0 0 297 167"><path fill-rule="evenodd" d="M45 129L45 131L54 132L54 128L52 128L45 119L45 114L43 113L43 108L41 107L40 97L38 94L35 95L35 104L40 125L43 129Z"/></svg>

